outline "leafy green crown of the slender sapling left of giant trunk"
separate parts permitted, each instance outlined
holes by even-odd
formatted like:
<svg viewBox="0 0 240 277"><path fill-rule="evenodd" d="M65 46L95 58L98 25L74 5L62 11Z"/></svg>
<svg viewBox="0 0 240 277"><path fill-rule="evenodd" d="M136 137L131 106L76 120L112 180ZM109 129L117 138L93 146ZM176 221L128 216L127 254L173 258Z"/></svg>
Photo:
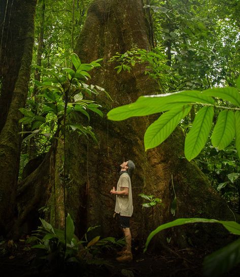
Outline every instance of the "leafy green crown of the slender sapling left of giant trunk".
<svg viewBox="0 0 240 277"><path fill-rule="evenodd" d="M90 120L89 111L103 116L99 110L100 105L93 100L83 99L84 94L93 96L103 88L94 85L88 85L85 82L90 78L89 71L100 66L99 60L91 63L81 63L81 60L76 54L72 55L72 61L75 70L72 68L61 68L60 72L55 69L46 69L41 66L36 66L45 75L43 81L35 80L38 90L41 92L42 101L38 101L37 108L33 111L21 108L20 112L24 115L20 122L30 126L30 131L23 131L23 134L28 134L24 140L28 140L33 136L45 136L48 140L53 139L57 133L59 136L63 133L63 119L68 130L76 131L80 135L90 135L96 141L96 137L91 126L84 126L73 121L72 115L82 114ZM29 107L31 109L31 106Z"/></svg>

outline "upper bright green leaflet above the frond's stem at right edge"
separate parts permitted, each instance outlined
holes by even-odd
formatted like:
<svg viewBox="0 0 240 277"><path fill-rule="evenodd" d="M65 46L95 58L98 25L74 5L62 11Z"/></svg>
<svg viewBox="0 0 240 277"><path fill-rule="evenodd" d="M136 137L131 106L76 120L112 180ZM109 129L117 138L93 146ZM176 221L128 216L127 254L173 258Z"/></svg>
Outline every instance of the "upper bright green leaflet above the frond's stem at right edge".
<svg viewBox="0 0 240 277"><path fill-rule="evenodd" d="M208 96L214 96L227 100L232 104L240 107L240 93L236 88L225 87L225 88L211 88L203 90L202 93Z"/></svg>

